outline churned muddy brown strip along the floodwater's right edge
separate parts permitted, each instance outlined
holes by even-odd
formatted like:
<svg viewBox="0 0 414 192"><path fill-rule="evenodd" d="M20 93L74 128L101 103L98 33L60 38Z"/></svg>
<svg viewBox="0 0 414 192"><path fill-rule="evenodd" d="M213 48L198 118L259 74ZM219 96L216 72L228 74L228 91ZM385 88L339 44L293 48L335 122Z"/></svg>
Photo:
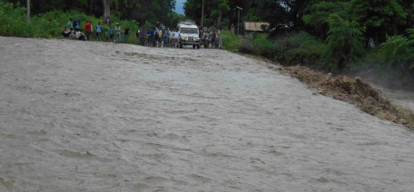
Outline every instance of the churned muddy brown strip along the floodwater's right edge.
<svg viewBox="0 0 414 192"><path fill-rule="evenodd" d="M257 60L272 62L262 57L246 55ZM315 90L315 94L332 97L354 104L362 111L380 119L399 123L414 130L414 92L408 90L390 90L380 85L368 83L361 77L332 76L314 71L307 67L281 67L272 62L281 71L293 78L297 78ZM372 80L372 79L371 79Z"/></svg>

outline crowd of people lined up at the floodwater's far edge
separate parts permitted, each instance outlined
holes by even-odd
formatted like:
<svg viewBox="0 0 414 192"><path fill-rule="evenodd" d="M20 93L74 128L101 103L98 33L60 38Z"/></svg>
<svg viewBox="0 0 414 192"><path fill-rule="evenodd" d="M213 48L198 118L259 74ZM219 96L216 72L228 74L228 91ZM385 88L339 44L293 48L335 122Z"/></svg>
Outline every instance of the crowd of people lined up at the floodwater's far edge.
<svg viewBox="0 0 414 192"><path fill-rule="evenodd" d="M128 25L123 28L123 40L121 40L121 26L116 23L115 27L112 27L109 18L105 20L105 32L100 22L95 26L95 36L100 41L116 42L116 43L128 43L131 30ZM90 41L93 35L94 27L91 21L86 21L84 30L81 29L81 20L76 18L69 19L67 25L62 29L62 35L71 39L78 39L81 41ZM85 34L86 33L86 34ZM208 45L215 46L215 39L220 34L220 30L206 29L201 27L199 37L203 39L203 45L208 41ZM158 46L158 47L178 47L180 43L180 30L175 28L166 27L156 22L154 27L140 27L135 33L138 38L138 43L142 46ZM115 38L115 39L114 39ZM206 46L205 46L206 47Z"/></svg>

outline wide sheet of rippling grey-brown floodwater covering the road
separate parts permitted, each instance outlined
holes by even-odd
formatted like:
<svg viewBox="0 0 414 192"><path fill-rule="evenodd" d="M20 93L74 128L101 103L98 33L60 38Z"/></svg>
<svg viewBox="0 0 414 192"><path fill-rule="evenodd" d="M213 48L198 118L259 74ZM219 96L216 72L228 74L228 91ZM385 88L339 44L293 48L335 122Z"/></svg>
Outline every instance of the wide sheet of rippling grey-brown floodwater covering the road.
<svg viewBox="0 0 414 192"><path fill-rule="evenodd" d="M413 191L412 131L266 62L0 42L0 191Z"/></svg>

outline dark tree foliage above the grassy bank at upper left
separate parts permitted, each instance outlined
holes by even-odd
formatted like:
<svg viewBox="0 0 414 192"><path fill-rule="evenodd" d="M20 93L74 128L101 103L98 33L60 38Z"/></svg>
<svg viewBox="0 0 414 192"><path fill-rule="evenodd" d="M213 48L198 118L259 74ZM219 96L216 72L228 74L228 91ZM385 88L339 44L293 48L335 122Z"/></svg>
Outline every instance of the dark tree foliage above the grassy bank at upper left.
<svg viewBox="0 0 414 192"><path fill-rule="evenodd" d="M27 0L1 0L25 6ZM49 11L78 11L101 18L104 11L102 0L30 0L32 15ZM111 6L111 15L121 20L136 20L139 23L161 22L175 26L180 15L173 12L175 0L106 0ZM102 20L101 20L102 22Z"/></svg>

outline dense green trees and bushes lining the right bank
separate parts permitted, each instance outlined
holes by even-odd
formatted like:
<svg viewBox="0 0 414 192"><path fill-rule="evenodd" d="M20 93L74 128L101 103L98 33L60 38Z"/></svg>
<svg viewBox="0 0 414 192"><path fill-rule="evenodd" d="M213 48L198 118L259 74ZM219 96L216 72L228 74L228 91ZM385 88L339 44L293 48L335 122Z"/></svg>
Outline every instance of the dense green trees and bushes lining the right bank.
<svg viewBox="0 0 414 192"><path fill-rule="evenodd" d="M200 1L185 4L189 18L200 20ZM243 8L241 22L270 25L269 35L246 33L248 39L240 39L223 34L224 39L237 42L224 41L225 48L336 74L370 68L400 85L414 82L414 0L234 0L227 4L229 11L220 18L228 21L223 26L215 21L217 15L210 14L218 4L205 1L205 25L229 29L238 19L236 6Z"/></svg>

